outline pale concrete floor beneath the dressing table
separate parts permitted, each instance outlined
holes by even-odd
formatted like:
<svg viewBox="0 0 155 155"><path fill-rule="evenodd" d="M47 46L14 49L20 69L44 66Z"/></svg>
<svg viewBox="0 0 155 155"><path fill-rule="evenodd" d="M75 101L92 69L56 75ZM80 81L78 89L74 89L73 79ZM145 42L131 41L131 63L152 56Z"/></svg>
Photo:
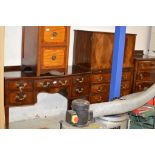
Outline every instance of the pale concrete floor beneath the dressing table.
<svg viewBox="0 0 155 155"><path fill-rule="evenodd" d="M64 116L54 116L48 118L35 118L31 120L23 120L10 122L10 129L60 129L60 120L64 120Z"/></svg>

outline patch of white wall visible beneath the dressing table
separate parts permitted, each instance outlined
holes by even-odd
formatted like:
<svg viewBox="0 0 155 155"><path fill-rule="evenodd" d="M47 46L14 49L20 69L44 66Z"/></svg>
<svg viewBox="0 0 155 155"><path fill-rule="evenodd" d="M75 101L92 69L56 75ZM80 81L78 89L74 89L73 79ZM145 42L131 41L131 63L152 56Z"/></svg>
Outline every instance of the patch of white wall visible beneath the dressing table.
<svg viewBox="0 0 155 155"><path fill-rule="evenodd" d="M32 106L10 108L10 122L66 114L68 100L58 93L39 93L37 101Z"/></svg>

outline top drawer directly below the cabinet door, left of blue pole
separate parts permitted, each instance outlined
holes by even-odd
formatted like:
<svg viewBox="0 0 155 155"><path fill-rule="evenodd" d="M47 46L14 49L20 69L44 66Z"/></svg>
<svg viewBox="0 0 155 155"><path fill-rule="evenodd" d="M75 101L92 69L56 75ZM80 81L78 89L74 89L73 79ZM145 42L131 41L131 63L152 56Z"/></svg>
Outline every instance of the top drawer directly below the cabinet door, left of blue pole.
<svg viewBox="0 0 155 155"><path fill-rule="evenodd" d="M102 83L102 82L110 82L111 74L93 74L91 75L91 82L92 83Z"/></svg>

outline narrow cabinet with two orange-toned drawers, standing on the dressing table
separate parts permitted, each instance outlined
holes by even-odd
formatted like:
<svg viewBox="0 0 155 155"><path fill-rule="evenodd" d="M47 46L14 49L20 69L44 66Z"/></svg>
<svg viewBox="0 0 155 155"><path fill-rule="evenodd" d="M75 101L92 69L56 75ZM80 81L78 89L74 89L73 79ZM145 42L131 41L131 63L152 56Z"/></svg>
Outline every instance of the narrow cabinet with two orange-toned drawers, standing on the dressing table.
<svg viewBox="0 0 155 155"><path fill-rule="evenodd" d="M23 27L22 70L40 76L51 70L67 72L70 28Z"/></svg>

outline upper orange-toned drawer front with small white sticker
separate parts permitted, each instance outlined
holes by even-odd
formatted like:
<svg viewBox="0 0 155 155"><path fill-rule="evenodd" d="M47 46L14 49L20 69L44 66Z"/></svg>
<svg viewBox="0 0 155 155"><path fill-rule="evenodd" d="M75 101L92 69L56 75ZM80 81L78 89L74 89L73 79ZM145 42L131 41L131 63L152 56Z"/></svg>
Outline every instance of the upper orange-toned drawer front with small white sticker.
<svg viewBox="0 0 155 155"><path fill-rule="evenodd" d="M65 26L45 26L43 28L43 43L65 44L66 27Z"/></svg>

